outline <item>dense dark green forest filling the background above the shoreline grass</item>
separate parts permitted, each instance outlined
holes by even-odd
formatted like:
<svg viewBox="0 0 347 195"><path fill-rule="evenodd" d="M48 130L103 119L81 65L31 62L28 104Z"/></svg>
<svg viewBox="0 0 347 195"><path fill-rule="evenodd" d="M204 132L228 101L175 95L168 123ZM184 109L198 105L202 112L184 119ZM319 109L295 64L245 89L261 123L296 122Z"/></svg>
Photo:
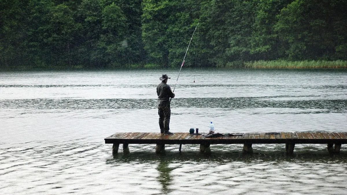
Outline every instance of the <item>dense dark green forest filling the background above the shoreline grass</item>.
<svg viewBox="0 0 347 195"><path fill-rule="evenodd" d="M1 0L0 68L347 60L346 0Z"/></svg>

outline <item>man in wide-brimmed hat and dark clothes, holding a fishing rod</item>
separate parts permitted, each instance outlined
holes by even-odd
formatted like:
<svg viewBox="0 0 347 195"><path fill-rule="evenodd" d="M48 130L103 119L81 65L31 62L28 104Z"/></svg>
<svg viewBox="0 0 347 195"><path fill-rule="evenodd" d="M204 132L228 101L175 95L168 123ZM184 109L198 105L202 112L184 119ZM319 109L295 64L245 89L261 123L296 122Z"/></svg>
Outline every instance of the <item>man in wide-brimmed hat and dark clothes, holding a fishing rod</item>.
<svg viewBox="0 0 347 195"><path fill-rule="evenodd" d="M160 133L174 134L169 132L169 123L170 123L170 97L174 98L175 94L172 93L171 88L168 84L168 75L163 75L159 79L161 83L156 87L156 94L158 95L158 114L159 114L159 127Z"/></svg>

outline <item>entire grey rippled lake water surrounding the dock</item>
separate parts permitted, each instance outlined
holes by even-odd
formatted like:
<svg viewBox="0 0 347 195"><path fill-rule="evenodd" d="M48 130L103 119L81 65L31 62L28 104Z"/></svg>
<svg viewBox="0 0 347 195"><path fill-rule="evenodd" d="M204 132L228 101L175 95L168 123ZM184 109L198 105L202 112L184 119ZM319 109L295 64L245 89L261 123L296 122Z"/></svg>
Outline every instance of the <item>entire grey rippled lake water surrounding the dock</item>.
<svg viewBox="0 0 347 195"><path fill-rule="evenodd" d="M156 85L178 71L0 73L0 194L347 194L347 149L325 145L130 144L104 138L159 132ZM195 83L193 83L195 75ZM346 70L183 69L170 131L347 131Z"/></svg>

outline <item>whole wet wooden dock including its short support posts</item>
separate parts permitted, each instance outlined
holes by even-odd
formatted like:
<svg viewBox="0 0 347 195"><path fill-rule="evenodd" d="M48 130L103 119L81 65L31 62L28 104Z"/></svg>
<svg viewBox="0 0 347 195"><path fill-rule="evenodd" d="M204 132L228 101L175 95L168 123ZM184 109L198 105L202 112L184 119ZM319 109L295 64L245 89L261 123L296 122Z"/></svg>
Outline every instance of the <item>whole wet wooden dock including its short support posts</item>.
<svg viewBox="0 0 347 195"><path fill-rule="evenodd" d="M252 144L286 144L286 153L294 151L295 144L327 144L329 153L339 153L341 144L347 144L347 132L280 132L268 133L232 133L244 134L227 137L205 137L189 133L116 133L105 138L106 144L113 144L112 153L116 154L119 144L123 144L124 152L129 152L129 144L156 144L156 153L164 151L165 144L200 144L200 152L209 153L210 144L244 144L243 152L252 152Z"/></svg>

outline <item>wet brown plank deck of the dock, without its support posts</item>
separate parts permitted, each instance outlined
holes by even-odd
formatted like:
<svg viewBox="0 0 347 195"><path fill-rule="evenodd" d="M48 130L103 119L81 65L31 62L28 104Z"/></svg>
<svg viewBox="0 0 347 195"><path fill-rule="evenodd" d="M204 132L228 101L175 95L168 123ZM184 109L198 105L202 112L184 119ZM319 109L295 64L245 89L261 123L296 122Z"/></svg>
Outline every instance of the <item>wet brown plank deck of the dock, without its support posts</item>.
<svg viewBox="0 0 347 195"><path fill-rule="evenodd" d="M240 133L233 133L240 134ZM115 133L106 144L347 144L347 132L281 132L206 138L189 133Z"/></svg>

